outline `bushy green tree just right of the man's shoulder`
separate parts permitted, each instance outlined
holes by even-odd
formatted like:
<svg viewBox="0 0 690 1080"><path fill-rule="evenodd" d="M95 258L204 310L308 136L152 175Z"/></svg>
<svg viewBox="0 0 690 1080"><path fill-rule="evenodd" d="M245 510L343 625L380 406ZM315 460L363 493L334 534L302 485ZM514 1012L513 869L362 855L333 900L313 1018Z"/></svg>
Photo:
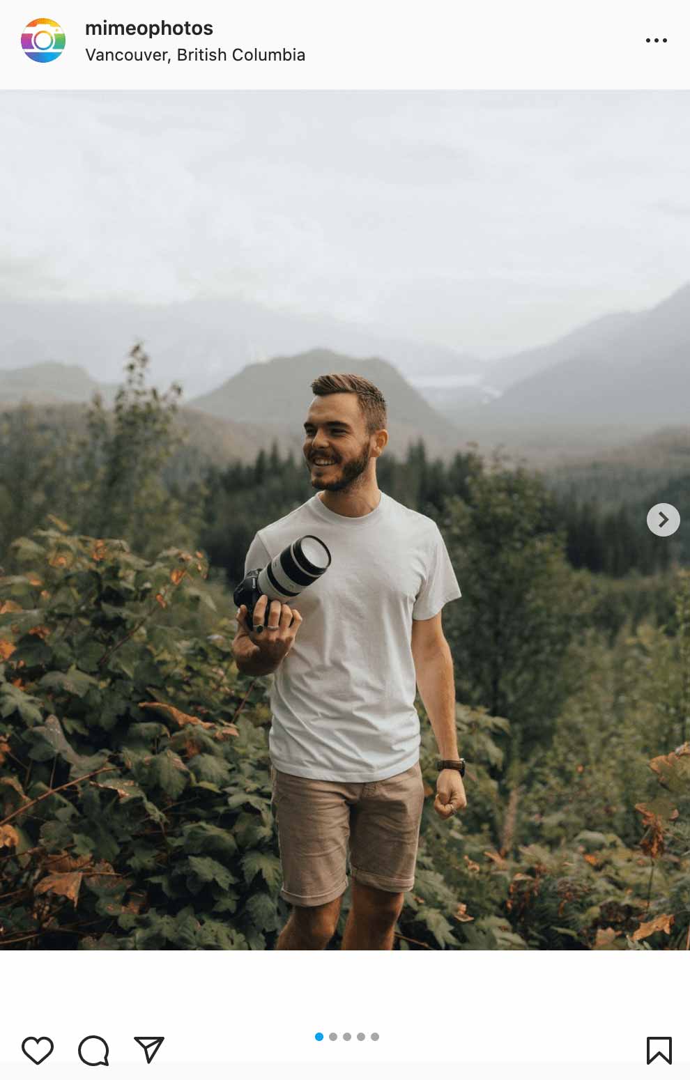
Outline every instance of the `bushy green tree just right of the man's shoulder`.
<svg viewBox="0 0 690 1080"><path fill-rule="evenodd" d="M569 688L564 663L584 611L581 579L551 525L543 482L522 469L476 468L445 530L463 583L446 619L458 697L510 716L514 755L549 737Z"/></svg>

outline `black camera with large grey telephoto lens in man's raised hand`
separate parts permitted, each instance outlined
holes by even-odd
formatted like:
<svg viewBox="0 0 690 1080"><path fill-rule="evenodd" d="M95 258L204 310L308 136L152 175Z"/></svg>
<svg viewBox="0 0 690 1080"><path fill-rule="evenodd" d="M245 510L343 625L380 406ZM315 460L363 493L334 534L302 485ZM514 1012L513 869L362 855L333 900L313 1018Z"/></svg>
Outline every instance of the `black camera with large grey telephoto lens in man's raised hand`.
<svg viewBox="0 0 690 1080"><path fill-rule="evenodd" d="M306 536L284 548L262 570L249 570L232 598L236 607L246 605L247 622L252 625L259 596L289 604L317 581L330 566L330 552L319 537Z"/></svg>

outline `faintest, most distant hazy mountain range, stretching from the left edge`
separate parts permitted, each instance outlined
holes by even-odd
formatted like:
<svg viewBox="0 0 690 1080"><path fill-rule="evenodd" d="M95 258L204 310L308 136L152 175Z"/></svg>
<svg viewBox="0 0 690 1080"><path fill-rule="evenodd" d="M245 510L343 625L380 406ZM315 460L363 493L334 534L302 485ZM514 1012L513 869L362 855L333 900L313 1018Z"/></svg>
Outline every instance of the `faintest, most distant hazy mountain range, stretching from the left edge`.
<svg viewBox="0 0 690 1080"><path fill-rule="evenodd" d="M114 382L128 350L141 341L155 384L176 380L186 396L208 392L246 364L303 352L314 341L351 356L388 356L409 375L472 374L483 366L461 352L380 327L271 310L236 297L160 305L5 299L0 327L0 376L3 369L57 361Z"/></svg>

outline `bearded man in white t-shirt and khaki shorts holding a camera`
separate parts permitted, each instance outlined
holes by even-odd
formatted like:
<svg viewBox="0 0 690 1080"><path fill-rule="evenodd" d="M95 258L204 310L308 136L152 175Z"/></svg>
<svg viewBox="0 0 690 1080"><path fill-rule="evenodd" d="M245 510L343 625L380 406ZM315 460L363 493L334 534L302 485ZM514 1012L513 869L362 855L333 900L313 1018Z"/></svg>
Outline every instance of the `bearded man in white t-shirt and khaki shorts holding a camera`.
<svg viewBox="0 0 690 1080"><path fill-rule="evenodd" d="M312 382L303 453L317 494L260 529L245 569L307 534L333 562L292 603L262 596L233 653L274 672L270 734L282 895L293 905L278 948L323 949L352 870L346 949L390 949L414 885L423 784L419 687L441 757L434 807L466 805L458 755L450 649L442 608L460 596L434 522L379 490L388 442L380 390L356 375Z"/></svg>

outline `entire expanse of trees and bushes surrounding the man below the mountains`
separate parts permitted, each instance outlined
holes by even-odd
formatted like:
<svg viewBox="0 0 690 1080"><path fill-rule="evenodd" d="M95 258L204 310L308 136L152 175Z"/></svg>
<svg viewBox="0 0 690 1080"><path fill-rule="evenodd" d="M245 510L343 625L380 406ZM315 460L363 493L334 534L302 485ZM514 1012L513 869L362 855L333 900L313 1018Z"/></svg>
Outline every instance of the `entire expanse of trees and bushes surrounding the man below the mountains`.
<svg viewBox="0 0 690 1080"><path fill-rule="evenodd" d="M257 528L313 492L275 446L204 461L179 397L137 347L79 429L0 415L0 947L269 949L288 914L269 680L236 671L231 597ZM689 949L682 543L650 534L644 495L504 451L418 444L378 475L437 522L463 592L444 629L469 805L432 811L418 702L429 798L396 948Z"/></svg>

